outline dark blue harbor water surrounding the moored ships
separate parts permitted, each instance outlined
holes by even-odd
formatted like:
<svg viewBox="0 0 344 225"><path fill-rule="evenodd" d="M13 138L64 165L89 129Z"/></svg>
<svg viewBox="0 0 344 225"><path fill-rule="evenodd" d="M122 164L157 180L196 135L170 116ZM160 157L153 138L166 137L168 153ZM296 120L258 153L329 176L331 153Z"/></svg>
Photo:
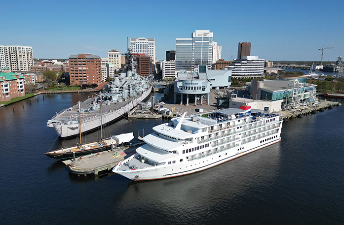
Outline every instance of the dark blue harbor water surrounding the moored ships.
<svg viewBox="0 0 344 225"><path fill-rule="evenodd" d="M46 122L86 98L40 95L0 108L0 224L344 224L344 106L292 119L281 142L211 169L132 182L76 176L43 155L76 144ZM124 118L104 134L137 137L162 122Z"/></svg>

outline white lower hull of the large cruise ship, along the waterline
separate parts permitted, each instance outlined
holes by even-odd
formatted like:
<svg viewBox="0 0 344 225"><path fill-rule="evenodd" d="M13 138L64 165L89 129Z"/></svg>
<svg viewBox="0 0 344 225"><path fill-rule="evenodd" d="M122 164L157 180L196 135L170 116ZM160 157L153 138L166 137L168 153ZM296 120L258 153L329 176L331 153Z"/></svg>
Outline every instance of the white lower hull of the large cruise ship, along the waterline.
<svg viewBox="0 0 344 225"><path fill-rule="evenodd" d="M275 138L272 138L274 136ZM147 169L139 169L137 171L135 170L118 171L117 169L119 166L117 165L113 169L113 172L118 173L134 181L157 180L157 179L166 179L166 178L188 175L188 174L192 174L192 173L199 172L205 169L209 169L219 164L234 160L236 158L247 155L249 153L252 153L254 151L267 147L269 145L275 144L281 140L280 132L268 136L268 138L270 137L271 137L271 140L264 144L261 144L260 141L263 139L267 139L267 137L258 139L256 141L253 141L247 144L240 145L239 147L244 147L244 149L249 149L242 152L238 151L238 147L234 147L232 149L213 154L209 157L204 157L198 160L194 160L192 162L188 161L185 163L178 163L175 165L171 164L168 166L166 165L153 166ZM128 158L125 161L128 161L131 158ZM121 163L125 163L125 161L122 161Z"/></svg>

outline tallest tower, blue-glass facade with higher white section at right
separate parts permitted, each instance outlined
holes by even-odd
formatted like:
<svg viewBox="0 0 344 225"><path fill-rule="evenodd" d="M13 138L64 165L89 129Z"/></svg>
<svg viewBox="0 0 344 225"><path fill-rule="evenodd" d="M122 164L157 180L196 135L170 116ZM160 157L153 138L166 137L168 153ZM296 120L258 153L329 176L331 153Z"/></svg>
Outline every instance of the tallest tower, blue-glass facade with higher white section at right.
<svg viewBox="0 0 344 225"><path fill-rule="evenodd" d="M211 69L213 55L213 33L209 30L196 30L191 38L176 38L176 71L194 71L198 65Z"/></svg>

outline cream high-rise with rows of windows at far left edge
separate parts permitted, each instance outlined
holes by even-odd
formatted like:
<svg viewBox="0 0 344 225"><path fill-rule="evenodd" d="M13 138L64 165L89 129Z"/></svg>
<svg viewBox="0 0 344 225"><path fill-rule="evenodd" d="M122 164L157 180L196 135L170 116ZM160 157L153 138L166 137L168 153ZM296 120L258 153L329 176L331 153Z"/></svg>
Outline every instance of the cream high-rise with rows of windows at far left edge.
<svg viewBox="0 0 344 225"><path fill-rule="evenodd" d="M0 45L0 71L9 68L12 72L30 71L34 65L32 47L21 45Z"/></svg>

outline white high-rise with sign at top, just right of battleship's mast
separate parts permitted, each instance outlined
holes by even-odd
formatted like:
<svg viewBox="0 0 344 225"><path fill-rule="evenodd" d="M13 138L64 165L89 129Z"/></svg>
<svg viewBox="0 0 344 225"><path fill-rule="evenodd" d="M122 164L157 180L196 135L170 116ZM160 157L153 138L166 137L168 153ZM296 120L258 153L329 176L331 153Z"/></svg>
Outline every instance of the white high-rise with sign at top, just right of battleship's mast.
<svg viewBox="0 0 344 225"><path fill-rule="evenodd" d="M153 58L155 64L155 39L138 37L130 38L129 48L133 54L146 54ZM120 66L119 66L120 67Z"/></svg>

